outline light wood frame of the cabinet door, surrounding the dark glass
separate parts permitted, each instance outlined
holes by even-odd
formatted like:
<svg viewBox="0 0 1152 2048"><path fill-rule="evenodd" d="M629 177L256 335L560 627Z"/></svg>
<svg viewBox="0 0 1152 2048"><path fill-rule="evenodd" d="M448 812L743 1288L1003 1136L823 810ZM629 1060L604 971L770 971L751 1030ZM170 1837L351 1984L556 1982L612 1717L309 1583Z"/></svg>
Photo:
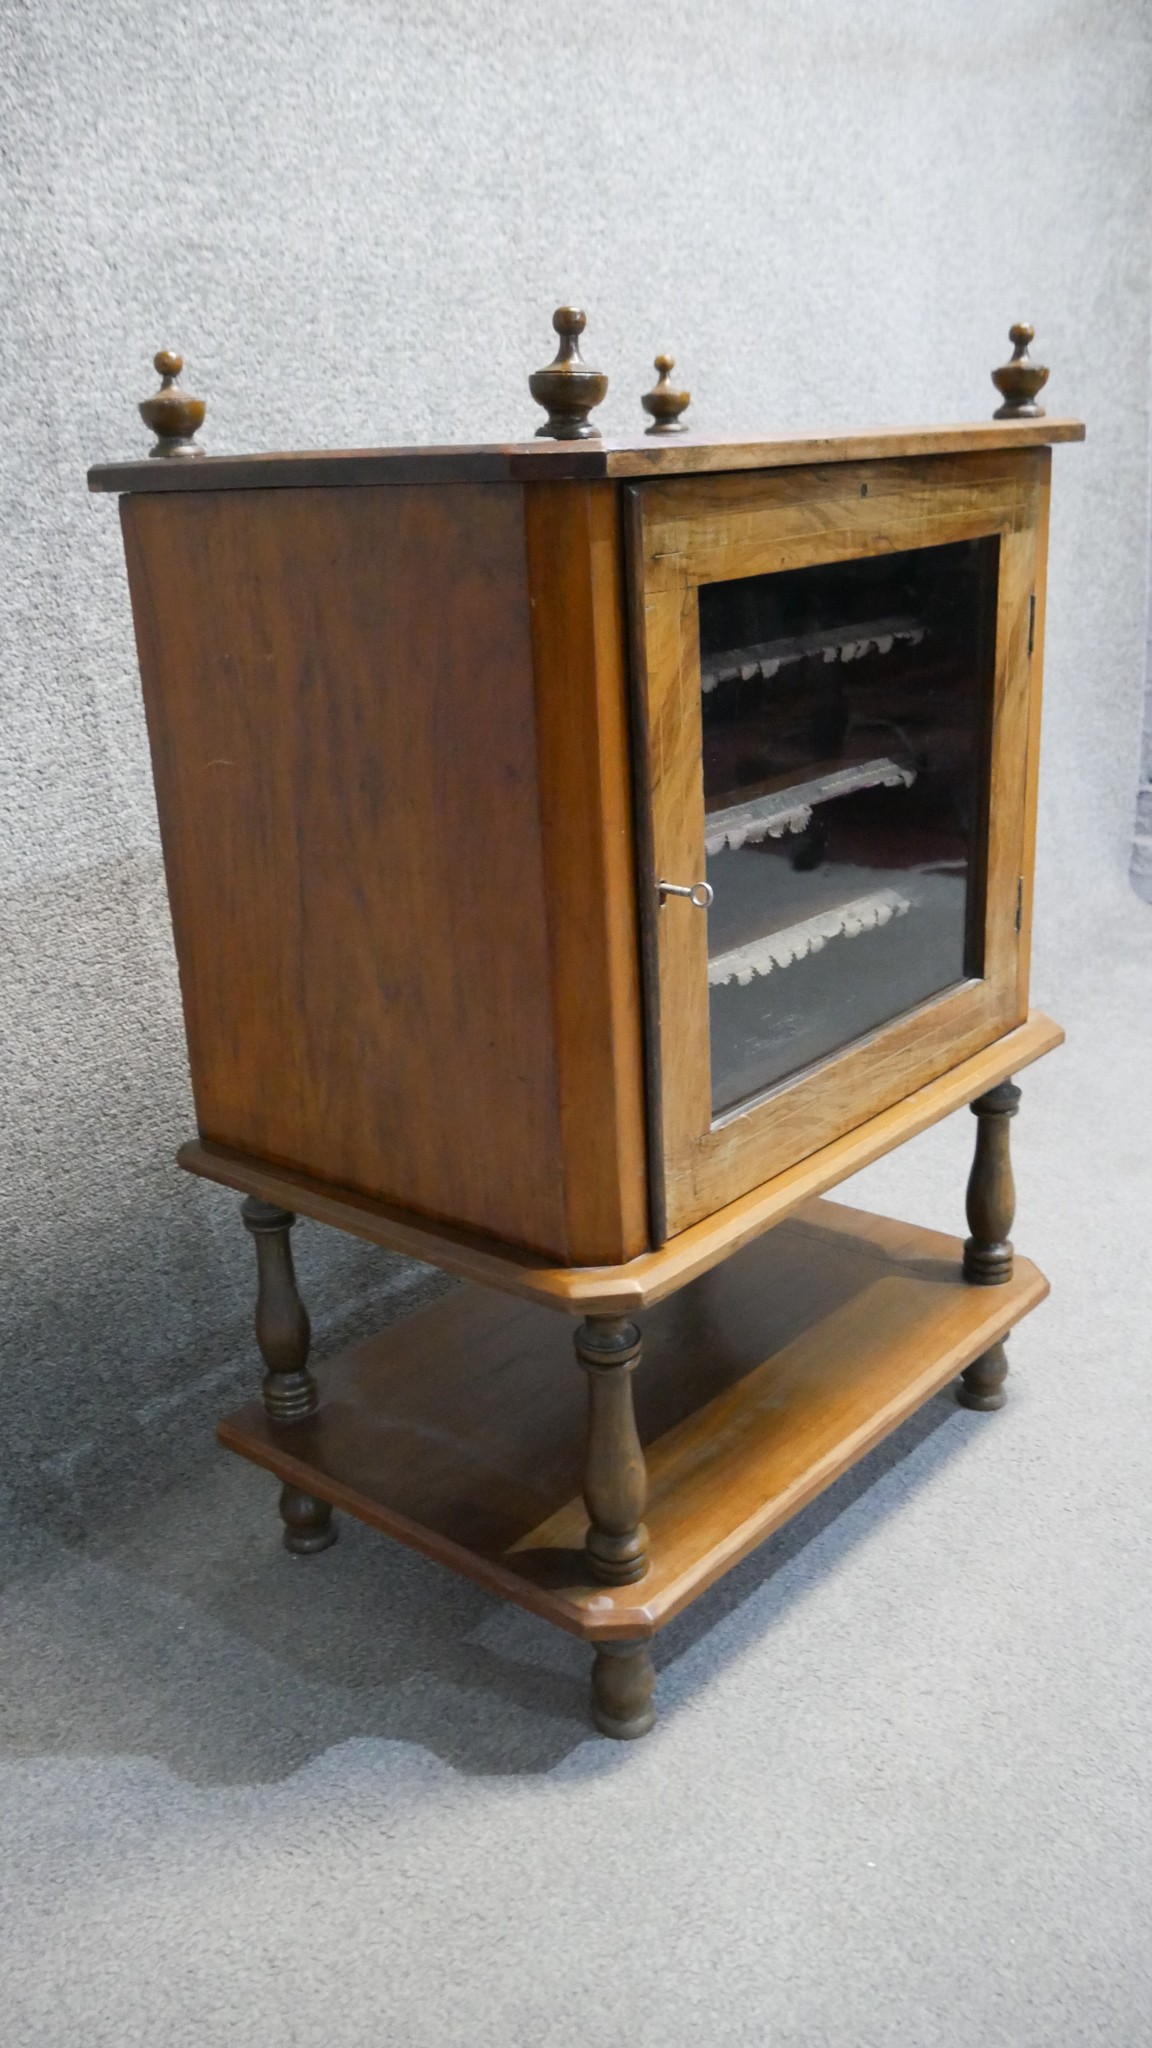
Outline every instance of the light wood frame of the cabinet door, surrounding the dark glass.
<svg viewBox="0 0 1152 2048"><path fill-rule="evenodd" d="M697 588L871 553L1000 537L984 975L879 1028L713 1124L707 926L656 913L660 1124L670 1235L832 1143L1023 1020L1017 881L1025 858L1027 623L1035 582L1035 455L810 469L635 489L633 633L644 694L656 879L705 872ZM652 915L652 911L648 911ZM658 1174L660 1161L652 1161Z"/></svg>

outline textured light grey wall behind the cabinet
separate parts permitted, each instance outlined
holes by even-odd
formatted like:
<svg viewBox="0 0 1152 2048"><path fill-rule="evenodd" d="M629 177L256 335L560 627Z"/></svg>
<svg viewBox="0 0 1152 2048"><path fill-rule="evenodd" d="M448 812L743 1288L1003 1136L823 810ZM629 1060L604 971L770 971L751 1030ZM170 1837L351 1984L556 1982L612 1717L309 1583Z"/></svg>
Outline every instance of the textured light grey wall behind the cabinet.
<svg viewBox="0 0 1152 2048"><path fill-rule="evenodd" d="M4 1425L84 1513L248 1354L191 1128L115 504L150 356L213 451L502 438L562 297L637 422L982 418L1013 317L1058 455L1039 993L1127 858L1148 561L1148 45L1134 0L6 0L0 293ZM943 1221L943 1219L941 1219ZM412 1270L299 1231L318 1323Z"/></svg>

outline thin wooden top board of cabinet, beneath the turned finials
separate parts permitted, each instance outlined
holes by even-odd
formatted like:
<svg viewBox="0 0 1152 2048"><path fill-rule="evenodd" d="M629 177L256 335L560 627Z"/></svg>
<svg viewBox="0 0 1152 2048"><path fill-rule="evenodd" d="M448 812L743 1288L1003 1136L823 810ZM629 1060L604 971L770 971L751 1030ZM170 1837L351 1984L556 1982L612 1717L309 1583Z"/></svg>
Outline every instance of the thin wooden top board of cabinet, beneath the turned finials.
<svg viewBox="0 0 1152 2048"><path fill-rule="evenodd" d="M515 440L478 446L314 449L295 455L205 455L193 461L98 463L92 492L244 492L357 483L592 483L605 477L791 469L912 455L978 455L1082 440L1080 420L984 420L968 426L881 426L763 440L676 434L635 440Z"/></svg>

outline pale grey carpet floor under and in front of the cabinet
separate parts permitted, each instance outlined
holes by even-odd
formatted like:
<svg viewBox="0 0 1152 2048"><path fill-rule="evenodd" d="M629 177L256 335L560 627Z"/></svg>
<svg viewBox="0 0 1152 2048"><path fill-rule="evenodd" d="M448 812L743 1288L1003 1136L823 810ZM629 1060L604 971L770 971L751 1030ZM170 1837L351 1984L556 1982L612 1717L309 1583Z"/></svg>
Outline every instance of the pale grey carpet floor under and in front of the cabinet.
<svg viewBox="0 0 1152 2048"><path fill-rule="evenodd" d="M586 1653L211 1446L0 1593L8 2048L1152 2040L1152 911L1039 977L1011 1405L943 1395L660 1638ZM961 1112L845 1192L961 1227ZM12 1532L16 1534L16 1532Z"/></svg>

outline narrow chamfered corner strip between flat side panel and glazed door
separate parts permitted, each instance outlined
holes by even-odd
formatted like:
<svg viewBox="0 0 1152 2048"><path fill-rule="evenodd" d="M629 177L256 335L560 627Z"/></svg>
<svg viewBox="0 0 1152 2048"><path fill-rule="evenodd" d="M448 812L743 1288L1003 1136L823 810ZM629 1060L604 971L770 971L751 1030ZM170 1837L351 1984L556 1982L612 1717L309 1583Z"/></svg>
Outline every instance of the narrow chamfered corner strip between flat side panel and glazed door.
<svg viewBox="0 0 1152 2048"><path fill-rule="evenodd" d="M627 655L615 483L525 492L572 1260L648 1247Z"/></svg>

